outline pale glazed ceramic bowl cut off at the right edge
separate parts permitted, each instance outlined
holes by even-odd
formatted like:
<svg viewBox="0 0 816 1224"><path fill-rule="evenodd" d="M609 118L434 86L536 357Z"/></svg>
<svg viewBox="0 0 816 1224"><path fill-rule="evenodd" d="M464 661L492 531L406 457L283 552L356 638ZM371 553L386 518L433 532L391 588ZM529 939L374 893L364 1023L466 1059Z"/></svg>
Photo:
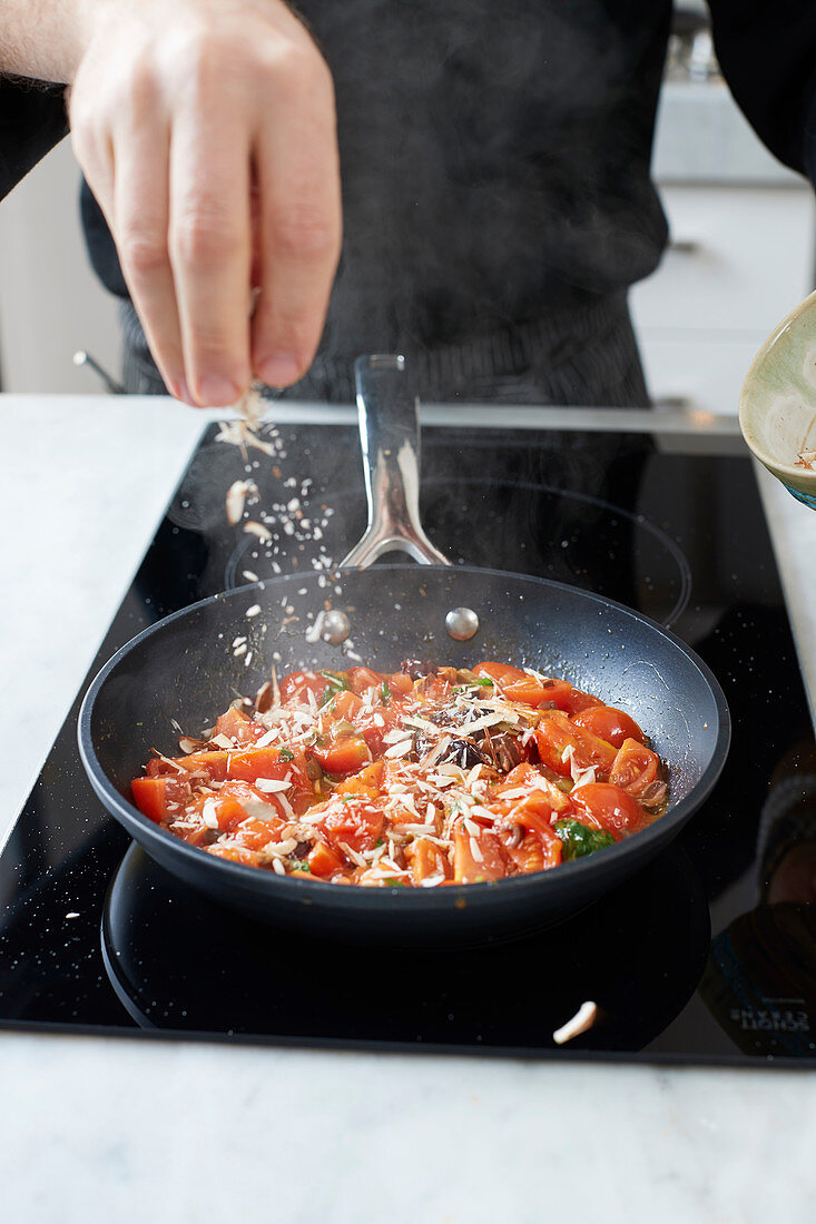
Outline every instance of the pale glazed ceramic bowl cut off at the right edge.
<svg viewBox="0 0 816 1224"><path fill-rule="evenodd" d="M757 353L740 395L749 447L794 497L816 510L816 293L779 323Z"/></svg>

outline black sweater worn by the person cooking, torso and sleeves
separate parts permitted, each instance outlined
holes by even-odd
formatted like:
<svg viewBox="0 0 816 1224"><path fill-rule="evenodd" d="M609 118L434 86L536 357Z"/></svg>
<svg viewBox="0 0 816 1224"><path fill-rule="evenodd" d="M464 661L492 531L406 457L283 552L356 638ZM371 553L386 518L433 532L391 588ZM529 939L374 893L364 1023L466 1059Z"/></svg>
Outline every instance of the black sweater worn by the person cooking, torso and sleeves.
<svg viewBox="0 0 816 1224"><path fill-rule="evenodd" d="M816 181L816 5L711 0L736 102ZM478 338L647 275L670 0L300 0L332 70L344 244L323 351ZM64 135L59 95L0 86L0 192ZM83 193L91 258L126 295Z"/></svg>

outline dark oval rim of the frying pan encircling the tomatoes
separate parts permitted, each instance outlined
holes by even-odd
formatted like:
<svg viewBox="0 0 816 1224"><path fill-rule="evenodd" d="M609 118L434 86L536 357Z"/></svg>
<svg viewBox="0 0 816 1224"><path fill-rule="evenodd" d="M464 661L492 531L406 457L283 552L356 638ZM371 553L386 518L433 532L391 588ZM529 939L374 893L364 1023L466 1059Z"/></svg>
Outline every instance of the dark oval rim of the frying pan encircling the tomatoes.
<svg viewBox="0 0 816 1224"><path fill-rule="evenodd" d="M500 569L488 569L480 565L417 565L410 563L404 564L376 564L366 569L353 568L344 570L346 574L365 574L365 573L379 573L379 572L421 572L421 574L445 574L453 575L458 573L469 573L477 577L495 578L504 580L515 580L523 583L532 583L540 588L546 588L549 590L562 591L572 596L580 596L591 603L598 605L600 608L614 608L616 612L624 613L626 617L637 622L638 624L648 625L659 636L667 638L684 656L685 659L700 672L705 679L711 695L714 701L717 711L717 736L712 745L711 755L706 767L703 769L698 781L691 788L691 791L680 799L680 802L674 807L669 808L665 815L660 816L652 825L646 829L640 830L632 837L624 838L624 841L616 842L614 846L606 847L603 854L588 854L584 858L575 859L569 863L560 863L555 875L564 881L572 879L576 871L583 871L584 875L589 873L594 874L595 870L603 869L603 863L609 863L610 858L615 856L616 858L622 858L624 853L631 853L631 846L633 843L641 846L643 852L647 851L648 846L654 842L663 843L671 838L668 836L669 832L674 836L680 831L682 825L691 818L691 815L705 803L706 798L711 794L728 756L728 749L730 745L731 737L731 718L728 703L725 700L725 694L723 693L719 681L711 671L708 665L693 651L681 638L678 636L671 629L665 625L659 624L651 617L644 616L641 612L636 612L633 608L627 607L625 603L619 603L615 600L606 599L605 596L597 595L594 591L584 591L580 588L570 586L567 583L560 583L555 579L539 578L538 575L531 574L518 574L511 570ZM414 906L417 909L429 908L436 909L441 908L440 902L444 896L450 905L445 905L445 908L456 907L457 901L467 897L477 897L479 895L485 895L488 891L491 894L497 886L502 890L510 886L515 887L516 891L521 889L529 889L533 886L540 887L543 880L553 880L554 873L551 870L545 871L532 871L524 875L508 876L501 880L490 880L474 884L455 884L450 885L444 890L439 889L415 889L415 887L383 887L383 889L370 889L363 885L348 885L339 889L337 885L331 884L326 880L293 880L289 876L278 876L273 871L261 871L256 867L247 867L241 863L232 863L228 859L219 859L216 856L207 854L206 851L197 846L190 846L187 842L181 841L181 838L175 837L172 832L157 825L154 821L145 816L135 804L126 800L120 792L109 781L108 775L102 769L99 759L97 756L93 738L91 734L91 721L93 715L93 709L96 699L99 695L105 681L116 668L116 666L137 646L143 641L148 640L151 636L164 629L167 625L173 624L175 621L181 619L200 612L205 607L211 607L216 603L224 603L228 601L246 600L251 596L251 592L257 595L263 592L270 588L276 590L285 586L290 583L298 583L304 585L304 583L316 583L320 575L315 572L314 574L279 574L270 579L262 579L251 585L234 588L228 591L218 591L214 595L208 595L203 600L197 600L195 603L190 603L184 608L179 608L175 612L169 613L161 621L157 621L152 625L142 629L134 638L126 641L119 650L111 655L111 657L102 666L97 672L93 681L88 685L86 694L82 699L82 705L80 707L80 714L77 718L77 744L80 750L80 759L86 775L91 782L91 786L97 794L97 798L102 802L105 810L113 815L131 836L134 829L142 831L147 842L153 838L158 838L159 842L164 843L168 849L173 849L180 858L180 860L186 860L195 870L219 873L221 879L229 879L236 886L241 886L241 891L249 891L252 894L259 894L265 890L270 890L270 895L274 896L278 892L281 896L281 889L292 890L292 900L295 901L300 896L301 901L309 903L310 897L320 897L321 900L327 900L330 896L336 897L336 902L342 909L358 908L360 905L365 905L368 908L376 908L381 906L385 901L388 902L388 907L393 903L397 897L412 897L412 901L397 901L398 905ZM251 602L251 600L250 600ZM140 840L138 837L136 840ZM145 846L146 842L142 841ZM147 848L147 846L146 846ZM148 851L149 853L149 851ZM208 864L205 867L205 864ZM594 864L594 867L593 867ZM224 875L227 871L227 875ZM266 881L266 883L261 883ZM555 886L553 884L550 887ZM295 891L297 890L297 891ZM419 897L424 898L424 905L420 906ZM364 898L366 898L364 901Z"/></svg>

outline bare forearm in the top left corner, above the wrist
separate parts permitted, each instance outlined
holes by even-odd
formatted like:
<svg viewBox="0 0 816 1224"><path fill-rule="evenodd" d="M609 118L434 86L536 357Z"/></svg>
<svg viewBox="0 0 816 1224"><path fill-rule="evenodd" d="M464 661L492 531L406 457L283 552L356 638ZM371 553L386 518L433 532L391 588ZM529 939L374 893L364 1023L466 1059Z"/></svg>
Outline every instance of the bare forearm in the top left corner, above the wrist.
<svg viewBox="0 0 816 1224"><path fill-rule="evenodd" d="M70 83L105 0L0 0L0 73Z"/></svg>

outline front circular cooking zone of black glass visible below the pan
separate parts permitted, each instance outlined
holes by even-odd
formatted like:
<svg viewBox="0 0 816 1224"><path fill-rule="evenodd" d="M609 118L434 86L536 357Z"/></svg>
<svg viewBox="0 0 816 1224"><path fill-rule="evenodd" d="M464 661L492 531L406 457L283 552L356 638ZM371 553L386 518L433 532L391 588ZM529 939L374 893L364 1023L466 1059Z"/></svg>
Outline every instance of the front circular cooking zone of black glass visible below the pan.
<svg viewBox="0 0 816 1224"><path fill-rule="evenodd" d="M553 1050L586 1000L599 1017L572 1050L642 1049L693 991L709 936L700 878L678 847L546 931L419 950L247 922L131 846L102 925L110 982L146 1028L485 1050Z"/></svg>

